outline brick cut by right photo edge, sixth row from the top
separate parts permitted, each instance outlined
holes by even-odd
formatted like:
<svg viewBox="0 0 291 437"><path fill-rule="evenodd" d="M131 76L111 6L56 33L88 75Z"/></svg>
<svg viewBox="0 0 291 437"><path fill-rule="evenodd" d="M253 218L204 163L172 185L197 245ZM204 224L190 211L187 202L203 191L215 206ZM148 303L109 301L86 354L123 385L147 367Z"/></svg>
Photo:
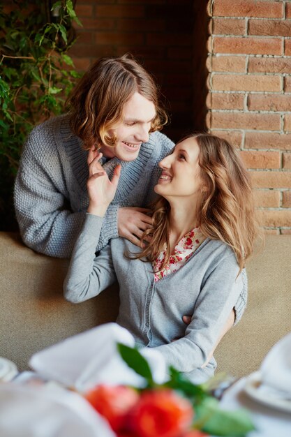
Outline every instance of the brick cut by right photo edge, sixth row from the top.
<svg viewBox="0 0 291 437"><path fill-rule="evenodd" d="M290 111L291 99L283 94L249 94L248 109L251 111Z"/></svg>

